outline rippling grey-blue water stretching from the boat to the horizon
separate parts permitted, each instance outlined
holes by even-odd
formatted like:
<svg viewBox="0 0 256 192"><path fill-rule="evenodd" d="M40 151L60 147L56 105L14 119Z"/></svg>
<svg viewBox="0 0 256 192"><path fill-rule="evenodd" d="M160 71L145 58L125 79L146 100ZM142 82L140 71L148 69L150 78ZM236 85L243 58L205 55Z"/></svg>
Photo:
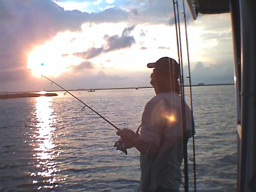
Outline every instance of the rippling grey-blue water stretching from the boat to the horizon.
<svg viewBox="0 0 256 192"><path fill-rule="evenodd" d="M153 89L72 93L121 129L134 131L145 103L154 96ZM197 187L234 191L234 88L194 87L193 102ZM0 191L137 191L139 152L116 151L114 127L82 107L63 92L56 97L0 100ZM188 158L193 158L191 140ZM188 163L193 187L193 163Z"/></svg>

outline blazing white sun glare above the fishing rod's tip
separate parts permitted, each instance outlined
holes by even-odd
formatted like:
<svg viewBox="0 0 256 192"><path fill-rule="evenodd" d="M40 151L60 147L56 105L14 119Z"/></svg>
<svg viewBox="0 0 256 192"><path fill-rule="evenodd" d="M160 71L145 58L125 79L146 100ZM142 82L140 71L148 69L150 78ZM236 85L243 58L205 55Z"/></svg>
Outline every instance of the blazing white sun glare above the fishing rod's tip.
<svg viewBox="0 0 256 192"><path fill-rule="evenodd" d="M58 77L63 72L69 71L71 66L78 65L82 59L70 53L72 45L71 33L57 34L45 44L36 46L28 53L27 68L39 77L41 75Z"/></svg>

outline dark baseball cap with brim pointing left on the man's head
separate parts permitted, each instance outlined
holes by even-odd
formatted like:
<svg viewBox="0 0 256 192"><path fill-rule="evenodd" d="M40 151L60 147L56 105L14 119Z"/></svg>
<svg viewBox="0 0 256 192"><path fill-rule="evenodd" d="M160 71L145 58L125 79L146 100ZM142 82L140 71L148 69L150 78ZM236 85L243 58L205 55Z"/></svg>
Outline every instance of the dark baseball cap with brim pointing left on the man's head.
<svg viewBox="0 0 256 192"><path fill-rule="evenodd" d="M147 63L148 68L155 68L154 72L161 75L180 75L180 66L177 61L170 57L162 57L156 62Z"/></svg>

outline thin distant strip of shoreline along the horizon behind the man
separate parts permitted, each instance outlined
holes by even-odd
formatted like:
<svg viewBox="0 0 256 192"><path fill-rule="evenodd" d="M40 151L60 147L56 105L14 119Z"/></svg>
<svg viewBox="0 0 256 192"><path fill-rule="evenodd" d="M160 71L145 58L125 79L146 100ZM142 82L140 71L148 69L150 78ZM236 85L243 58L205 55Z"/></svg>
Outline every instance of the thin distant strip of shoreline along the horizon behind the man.
<svg viewBox="0 0 256 192"><path fill-rule="evenodd" d="M223 84L193 84L191 87L205 87L205 86L231 86L234 85L234 83L223 83ZM185 85L184 87L189 87L188 85ZM153 88L153 87L128 87L128 88L102 88L102 89L93 89L95 91L100 91L100 90L121 90L121 89L148 89L148 88ZM71 89L68 91L90 91L90 89ZM41 91L41 90L40 90ZM57 92L57 91L63 91L63 90L54 90L54 91L46 91L46 92ZM39 91L25 91L25 92L1 92L0 95L3 94L14 94L14 93L35 93Z"/></svg>

